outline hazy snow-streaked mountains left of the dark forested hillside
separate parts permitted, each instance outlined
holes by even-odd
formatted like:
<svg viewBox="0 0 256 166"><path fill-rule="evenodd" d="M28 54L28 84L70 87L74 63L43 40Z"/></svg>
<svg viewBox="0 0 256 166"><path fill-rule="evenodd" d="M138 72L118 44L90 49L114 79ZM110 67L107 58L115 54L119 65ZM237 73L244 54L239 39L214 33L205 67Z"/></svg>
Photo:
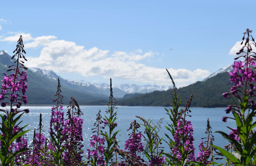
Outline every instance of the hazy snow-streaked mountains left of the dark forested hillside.
<svg viewBox="0 0 256 166"><path fill-rule="evenodd" d="M13 64L14 60L11 59L11 56L4 50L1 50L0 72L8 73L6 72L9 69L8 66ZM28 92L26 93L29 101L28 104L51 104L57 89L58 78L60 79L61 88L63 88L62 92L67 93L68 98L64 99L65 102L68 102L67 99L71 96L80 98L80 104L100 104L100 102L106 103L108 101L110 87L107 83L91 84L83 80L63 79L53 71L39 68L29 68L28 75ZM154 90L167 90L168 88L167 86L156 85L113 85L115 97L124 97L124 99L143 93L150 93ZM66 95L64 96L66 97Z"/></svg>

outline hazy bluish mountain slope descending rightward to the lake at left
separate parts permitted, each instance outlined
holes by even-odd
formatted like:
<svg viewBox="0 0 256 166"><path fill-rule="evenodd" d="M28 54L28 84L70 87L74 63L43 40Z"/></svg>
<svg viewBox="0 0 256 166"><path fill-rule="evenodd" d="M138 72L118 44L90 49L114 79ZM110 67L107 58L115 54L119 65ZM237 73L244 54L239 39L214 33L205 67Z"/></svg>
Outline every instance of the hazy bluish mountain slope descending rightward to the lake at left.
<svg viewBox="0 0 256 166"><path fill-rule="evenodd" d="M9 65L14 64L14 59L4 51L0 51L0 73L5 72L7 75L11 72L6 72ZM52 100L56 97L54 94L57 91L58 76L52 71L44 71L40 69L27 70L28 74L28 91L26 95L28 97L28 104L51 104ZM74 97L79 104L87 104L90 101L106 100L108 95L94 94L86 92L85 90L79 90L76 87L71 87L64 83L61 79L61 91L63 103L68 105L70 97Z"/></svg>

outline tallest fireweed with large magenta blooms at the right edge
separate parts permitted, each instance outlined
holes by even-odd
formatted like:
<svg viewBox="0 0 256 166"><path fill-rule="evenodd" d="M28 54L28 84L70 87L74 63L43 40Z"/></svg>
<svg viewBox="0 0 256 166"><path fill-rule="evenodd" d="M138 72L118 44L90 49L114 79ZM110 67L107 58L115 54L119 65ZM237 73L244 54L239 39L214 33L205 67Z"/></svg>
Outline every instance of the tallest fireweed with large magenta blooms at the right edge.
<svg viewBox="0 0 256 166"><path fill-rule="evenodd" d="M229 135L224 132L219 133L236 150L229 153L223 148L214 146L231 162L228 163L229 165L255 165L256 163L256 148L254 146L256 132L253 130L256 126L255 120L253 122L253 117L256 116L256 103L253 100L253 96L255 96L253 83L256 82L256 53L252 51L252 46L256 46L256 43L250 33L252 31L246 29L241 42L241 45L244 43L244 46L236 53L237 55L242 55L236 57L235 60L243 58L242 61L235 61L232 66L233 71L229 72L230 82L235 85L230 88L230 93L223 93L224 98L231 97L233 99L234 105L229 105L225 110L227 114L231 112L233 117L223 117L222 120L226 122L228 118L235 119L236 128L228 127L231 130Z"/></svg>

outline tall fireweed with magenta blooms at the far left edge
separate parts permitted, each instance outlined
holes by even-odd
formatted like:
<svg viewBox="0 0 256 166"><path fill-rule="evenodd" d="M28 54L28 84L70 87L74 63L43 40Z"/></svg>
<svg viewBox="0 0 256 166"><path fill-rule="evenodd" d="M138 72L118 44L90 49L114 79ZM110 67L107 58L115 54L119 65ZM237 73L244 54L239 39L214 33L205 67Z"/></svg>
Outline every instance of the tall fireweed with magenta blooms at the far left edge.
<svg viewBox="0 0 256 166"><path fill-rule="evenodd" d="M19 127L19 119L24 113L28 113L28 109L20 110L22 104L27 104L27 96L25 92L27 91L27 77L25 70L28 68L24 66L24 61L27 61L25 56L26 51L24 50L22 36L18 40L16 49L13 51L15 53L12 59L16 57L14 65L10 65L7 72L13 71L10 75L4 74L4 79L1 86L0 102L1 106L5 109L0 109L4 115L0 115L2 118L2 123L0 130L2 134L0 135L1 149L0 149L0 165L7 166L16 156L20 155L22 152L28 150L29 148L24 145L23 147L13 150L15 140L23 136L29 130L23 131L27 126ZM10 110L7 109L6 105L10 106ZM21 114L19 114L21 113ZM17 115L17 116L16 116ZM17 124L18 123L18 124ZM16 140L17 143L17 140Z"/></svg>

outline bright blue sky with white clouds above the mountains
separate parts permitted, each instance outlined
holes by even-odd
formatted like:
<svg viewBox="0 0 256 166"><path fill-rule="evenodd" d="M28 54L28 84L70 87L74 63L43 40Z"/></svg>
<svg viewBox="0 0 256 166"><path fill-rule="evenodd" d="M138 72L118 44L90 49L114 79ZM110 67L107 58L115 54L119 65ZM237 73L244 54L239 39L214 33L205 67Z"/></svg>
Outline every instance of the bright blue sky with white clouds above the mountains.
<svg viewBox="0 0 256 166"><path fill-rule="evenodd" d="M26 66L90 83L176 86L234 62L256 36L256 1L1 1L0 50L19 36ZM172 50L170 50L172 49Z"/></svg>

